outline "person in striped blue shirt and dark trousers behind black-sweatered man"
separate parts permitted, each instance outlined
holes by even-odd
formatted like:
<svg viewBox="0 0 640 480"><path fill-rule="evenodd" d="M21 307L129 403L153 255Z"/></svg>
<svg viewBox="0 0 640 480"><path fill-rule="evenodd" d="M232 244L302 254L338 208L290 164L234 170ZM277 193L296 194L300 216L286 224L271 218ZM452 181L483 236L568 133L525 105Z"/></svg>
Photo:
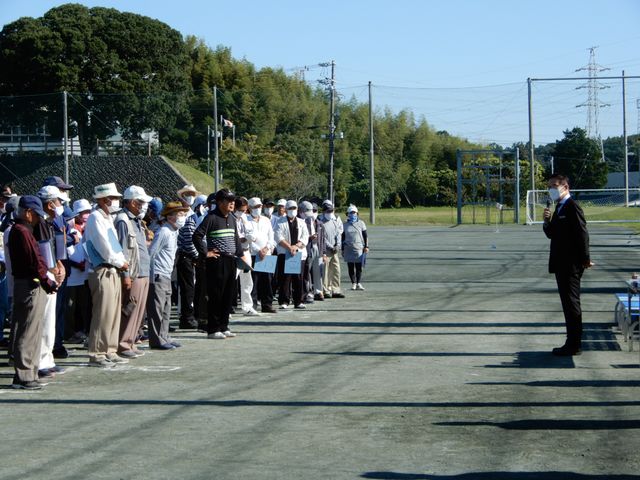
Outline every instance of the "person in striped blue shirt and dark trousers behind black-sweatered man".
<svg viewBox="0 0 640 480"><path fill-rule="evenodd" d="M184 205L185 202L183 201ZM186 206L186 205L185 205ZM197 329L198 319L206 318L202 308L202 272L198 272L198 251L193 246L193 232L207 214L207 197L198 195L191 205L192 215L178 231L178 259L176 269L180 289L180 328ZM202 270L202 269L200 269ZM200 274L199 274L200 273ZM201 310L204 310L201 312Z"/></svg>

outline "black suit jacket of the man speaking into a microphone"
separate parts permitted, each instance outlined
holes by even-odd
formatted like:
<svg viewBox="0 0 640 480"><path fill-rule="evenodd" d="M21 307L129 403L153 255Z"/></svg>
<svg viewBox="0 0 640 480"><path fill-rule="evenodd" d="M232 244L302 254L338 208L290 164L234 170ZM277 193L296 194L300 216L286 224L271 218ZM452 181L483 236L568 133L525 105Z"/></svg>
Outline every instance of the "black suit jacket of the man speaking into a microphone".
<svg viewBox="0 0 640 480"><path fill-rule="evenodd" d="M573 198L556 206L550 222L543 229L551 239L549 273L576 273L584 270L589 257L589 232L584 212Z"/></svg>

